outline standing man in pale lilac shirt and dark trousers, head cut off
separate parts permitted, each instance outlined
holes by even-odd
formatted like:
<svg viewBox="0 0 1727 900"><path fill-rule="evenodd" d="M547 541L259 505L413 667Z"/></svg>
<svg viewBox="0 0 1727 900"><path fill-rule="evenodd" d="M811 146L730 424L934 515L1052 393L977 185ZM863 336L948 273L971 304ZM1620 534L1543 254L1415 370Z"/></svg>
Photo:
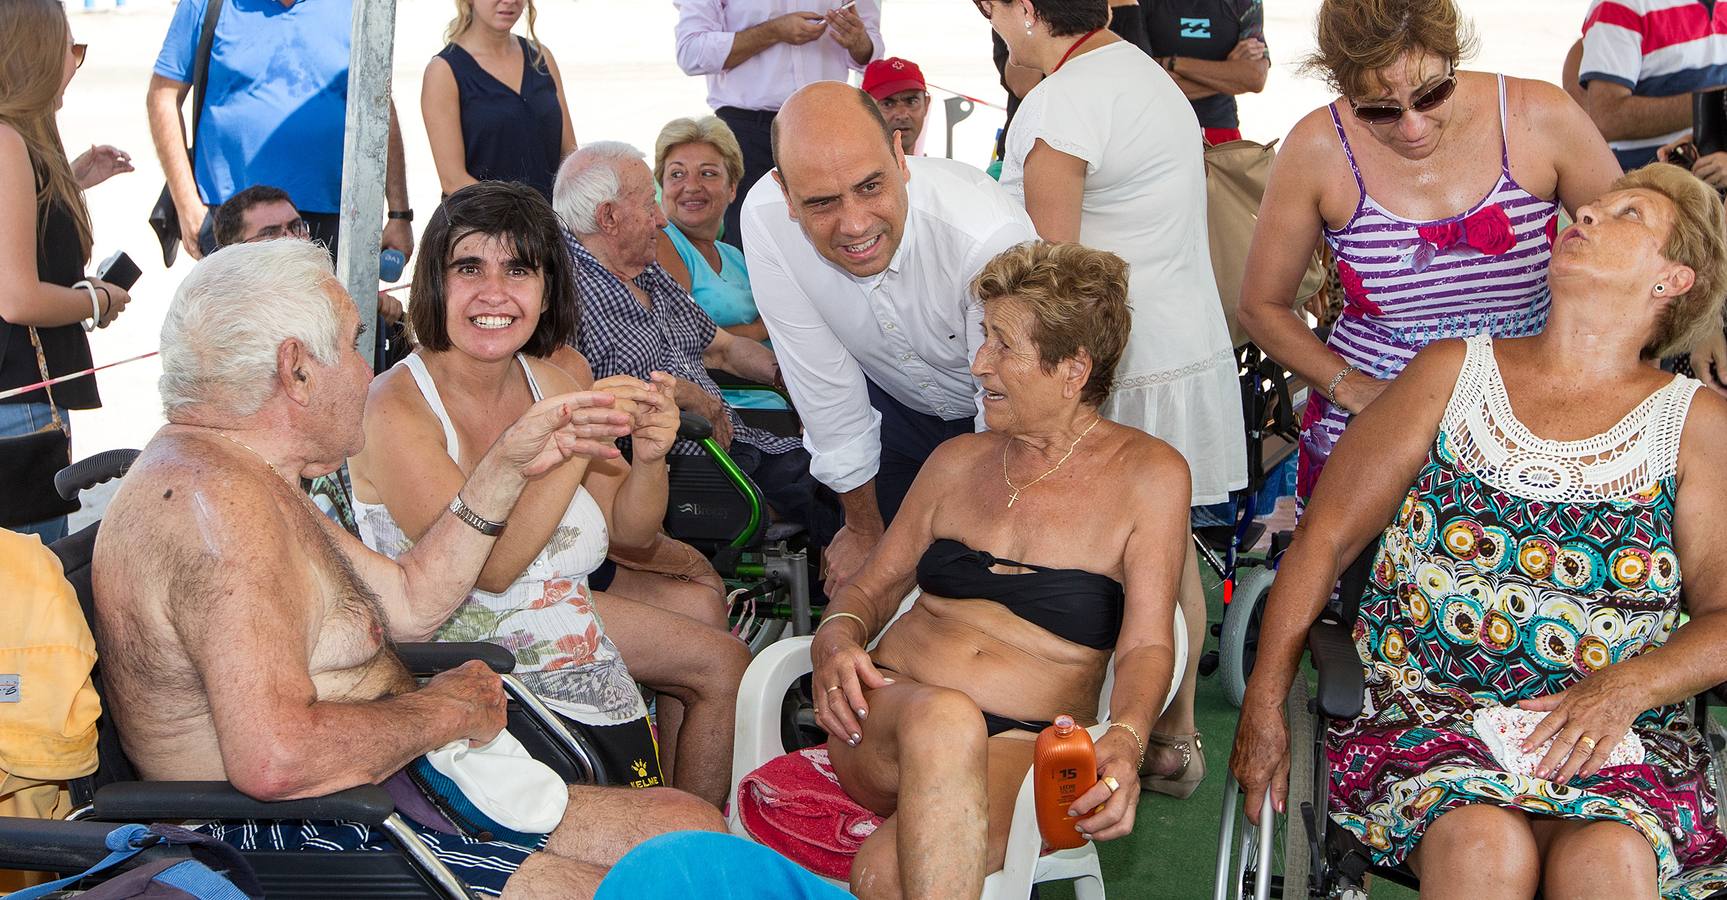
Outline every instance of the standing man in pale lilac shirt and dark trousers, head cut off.
<svg viewBox="0 0 1727 900"><path fill-rule="evenodd" d="M791 92L813 81L845 81L881 57L881 0L841 0L827 12L807 9L803 0L674 2L677 67L708 76L708 105L744 152L739 202L725 211L720 235L743 247L737 209L750 187L774 168L774 114Z"/></svg>

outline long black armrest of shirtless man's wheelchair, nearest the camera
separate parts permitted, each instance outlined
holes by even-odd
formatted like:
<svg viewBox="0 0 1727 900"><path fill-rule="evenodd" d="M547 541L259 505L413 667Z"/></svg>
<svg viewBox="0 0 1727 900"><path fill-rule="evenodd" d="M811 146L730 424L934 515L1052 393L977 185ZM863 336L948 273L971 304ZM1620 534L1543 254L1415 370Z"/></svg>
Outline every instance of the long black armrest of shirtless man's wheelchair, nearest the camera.
<svg viewBox="0 0 1727 900"><path fill-rule="evenodd" d="M344 819L380 826L395 812L376 784L306 800L252 800L226 781L117 781L97 789L95 817L109 822L176 819Z"/></svg>

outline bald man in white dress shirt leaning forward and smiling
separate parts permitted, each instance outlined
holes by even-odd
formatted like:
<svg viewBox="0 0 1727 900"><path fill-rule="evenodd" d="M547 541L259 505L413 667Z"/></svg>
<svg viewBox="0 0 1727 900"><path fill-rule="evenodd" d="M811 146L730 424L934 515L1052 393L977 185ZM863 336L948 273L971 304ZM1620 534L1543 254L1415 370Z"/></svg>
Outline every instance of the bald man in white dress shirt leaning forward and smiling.
<svg viewBox="0 0 1727 900"><path fill-rule="evenodd" d="M929 453L974 430L983 307L971 280L1038 235L979 169L907 162L858 88L798 90L772 138L779 169L743 204L744 252L810 472L846 511L827 548L832 596Z"/></svg>

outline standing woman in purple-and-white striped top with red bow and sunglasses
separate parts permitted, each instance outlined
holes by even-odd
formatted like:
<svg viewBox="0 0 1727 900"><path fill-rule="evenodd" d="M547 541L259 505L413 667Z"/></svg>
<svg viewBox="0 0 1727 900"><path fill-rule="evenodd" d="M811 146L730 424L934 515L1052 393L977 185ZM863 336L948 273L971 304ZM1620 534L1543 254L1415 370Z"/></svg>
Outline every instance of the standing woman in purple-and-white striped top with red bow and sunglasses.
<svg viewBox="0 0 1727 900"><path fill-rule="evenodd" d="M1349 418L1433 340L1539 333L1563 204L1620 174L1594 124L1542 81L1463 73L1451 0L1326 0L1309 71L1342 97L1290 131L1261 206L1240 321L1316 390L1302 418L1306 501ZM1321 342L1292 313L1314 242L1344 314Z"/></svg>

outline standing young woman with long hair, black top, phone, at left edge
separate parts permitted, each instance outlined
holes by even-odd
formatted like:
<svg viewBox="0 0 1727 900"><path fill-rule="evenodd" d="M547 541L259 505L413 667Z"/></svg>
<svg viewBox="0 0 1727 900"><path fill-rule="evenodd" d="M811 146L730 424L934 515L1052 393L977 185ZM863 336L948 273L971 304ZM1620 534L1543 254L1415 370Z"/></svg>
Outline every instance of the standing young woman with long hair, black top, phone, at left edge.
<svg viewBox="0 0 1727 900"><path fill-rule="evenodd" d="M66 157L55 112L83 57L57 0L0 0L0 392L36 383L43 371L90 368L85 328L114 321L131 301L124 288L83 271L92 233L83 188L131 171L112 147ZM55 385L52 397L48 390L5 397L0 435L66 430L67 409L100 404L92 377ZM52 485L35 482L3 489L52 494ZM14 494L16 508L29 506L22 494ZM0 522L45 541L66 534L66 517L16 518L5 513Z"/></svg>

